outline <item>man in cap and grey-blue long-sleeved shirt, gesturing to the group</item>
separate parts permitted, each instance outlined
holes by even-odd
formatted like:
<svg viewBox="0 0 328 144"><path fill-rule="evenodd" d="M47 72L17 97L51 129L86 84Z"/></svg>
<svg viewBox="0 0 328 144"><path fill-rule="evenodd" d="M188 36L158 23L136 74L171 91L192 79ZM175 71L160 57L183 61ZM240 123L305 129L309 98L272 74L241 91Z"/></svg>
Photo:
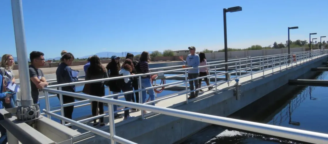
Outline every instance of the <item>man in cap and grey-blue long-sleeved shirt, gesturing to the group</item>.
<svg viewBox="0 0 328 144"><path fill-rule="evenodd" d="M186 61L183 60L183 57L180 56L180 60L187 66L187 67L194 67L194 69L188 69L188 79L195 79L199 78L199 56L196 54L196 48L195 46L189 46L188 47L190 54L187 56ZM194 90L194 84L195 89L199 88L198 80L189 81L189 88L190 90ZM191 92L190 97L188 99L193 99L198 97L198 91Z"/></svg>

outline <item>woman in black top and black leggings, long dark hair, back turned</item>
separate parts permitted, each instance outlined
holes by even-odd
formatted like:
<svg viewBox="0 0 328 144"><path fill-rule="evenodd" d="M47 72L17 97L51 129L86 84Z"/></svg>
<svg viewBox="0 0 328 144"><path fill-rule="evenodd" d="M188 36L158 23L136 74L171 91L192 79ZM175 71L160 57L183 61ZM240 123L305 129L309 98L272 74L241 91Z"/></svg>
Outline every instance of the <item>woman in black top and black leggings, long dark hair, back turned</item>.
<svg viewBox="0 0 328 144"><path fill-rule="evenodd" d="M90 67L87 70L85 80L97 80L108 78L107 69L101 64L98 56L94 55L90 58ZM90 95L103 97L105 96L104 81L94 82L90 85ZM92 116L96 116L97 107L99 106L99 115L104 114L104 103L98 101L92 101ZM100 117L100 126L104 126L104 117ZM96 119L93 119L93 126L98 125Z"/></svg>

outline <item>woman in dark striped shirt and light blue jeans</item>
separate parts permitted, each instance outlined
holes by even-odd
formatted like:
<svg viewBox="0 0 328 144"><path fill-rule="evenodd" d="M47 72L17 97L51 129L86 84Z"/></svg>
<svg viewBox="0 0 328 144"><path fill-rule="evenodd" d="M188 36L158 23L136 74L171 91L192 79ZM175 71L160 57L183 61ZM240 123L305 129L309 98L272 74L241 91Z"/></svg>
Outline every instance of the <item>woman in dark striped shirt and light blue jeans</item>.
<svg viewBox="0 0 328 144"><path fill-rule="evenodd" d="M140 56L140 60L139 60L139 67L140 67L140 72L145 74L145 73L149 73L150 70L149 70L149 64L148 62L150 61L150 56L149 56L149 53L147 51L144 51L141 53L141 56ZM144 88L147 88L147 87L152 87L152 82L151 82L151 77L150 75L146 75L146 76L142 76L141 77L141 87L144 89ZM150 97L150 100L151 101L154 101L155 100L155 92L154 92L154 89L149 89L147 90L148 91L148 94L149 94L149 97ZM146 91L142 91L142 102L145 103L146 102ZM155 105L155 103L152 103L152 105ZM144 114L146 114L147 111L144 111Z"/></svg>

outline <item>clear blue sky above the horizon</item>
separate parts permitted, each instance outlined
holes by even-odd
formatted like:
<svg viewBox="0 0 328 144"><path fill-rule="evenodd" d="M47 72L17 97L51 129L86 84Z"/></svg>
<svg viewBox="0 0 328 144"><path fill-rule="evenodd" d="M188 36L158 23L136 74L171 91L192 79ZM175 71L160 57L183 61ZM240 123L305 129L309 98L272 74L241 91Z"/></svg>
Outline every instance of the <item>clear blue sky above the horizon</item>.
<svg viewBox="0 0 328 144"><path fill-rule="evenodd" d="M317 0L23 0L27 50L47 58L61 50L76 57L102 51L182 50L194 45L218 50L224 47L223 8L227 13L228 47L285 43L309 33L328 36L327 13ZM10 0L0 0L0 49L16 55ZM328 39L323 39L328 40ZM318 40L320 41L320 40ZM2 55L0 54L0 55Z"/></svg>

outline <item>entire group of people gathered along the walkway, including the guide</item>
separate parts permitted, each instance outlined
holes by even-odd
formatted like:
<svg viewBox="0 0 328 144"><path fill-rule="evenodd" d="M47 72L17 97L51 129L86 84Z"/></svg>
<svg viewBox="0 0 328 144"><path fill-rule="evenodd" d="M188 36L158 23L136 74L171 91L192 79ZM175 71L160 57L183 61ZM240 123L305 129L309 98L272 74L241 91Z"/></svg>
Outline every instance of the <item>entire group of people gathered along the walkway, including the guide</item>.
<svg viewBox="0 0 328 144"><path fill-rule="evenodd" d="M200 53L199 55L195 53L195 47L190 46L190 53L187 56L186 61L183 60L183 57L180 56L180 59L187 67L194 67L194 69L188 70L188 79L195 79L199 77L203 77L209 74L209 70L207 67L203 68L196 68L198 66L207 65L205 54ZM56 70L56 79L58 84L62 83L71 83L78 81L77 77L73 77L72 69L70 66L74 61L74 56L72 53L62 51L60 58L60 64ZM128 53L126 56L125 61L123 64L120 64L120 57L113 55L111 57L111 62L104 67L100 61L100 58L96 55L88 58L88 63L84 66L84 71L86 73L85 80L95 80L95 79L104 79L104 78L112 78L112 77L119 77L119 76L128 76L134 74L146 74L149 73L149 62L150 62L150 55L147 51L141 53L139 62L134 60L134 56L131 53ZM31 64L29 65L29 73L30 73L30 80L31 80L31 96L33 99L34 104L39 104L39 90L47 87L48 82L44 77L42 70L40 69L45 64L44 53L39 51L32 51L30 53L30 61ZM12 55L5 54L2 56L1 63L0 63L0 108L13 108L16 105L17 95L15 92L7 89L8 83L15 82L14 73L12 71L14 66L14 59ZM206 84L209 85L207 78L204 79ZM189 81L190 90L200 88L201 79L195 81ZM121 92L128 92L132 90L139 89L139 82L138 77L131 77L131 78L124 78L118 80L111 80L111 81L101 81L95 82L90 85L90 95L92 96L105 96L105 85L109 87L109 90L112 94L119 94ZM148 88L152 87L152 80L150 75L145 75L141 77L141 88ZM212 89L213 87L209 87L208 89ZM62 87L63 91L68 92L75 92L75 85L71 86L64 86ZM202 90L200 90L202 91ZM147 90L149 94L149 98L151 101L155 100L155 92L153 89ZM135 94L135 97L134 97ZM139 93L126 94L124 95L126 101L133 101L139 103ZM198 91L191 92L191 96L188 99L192 99L198 96ZM57 95L59 99L59 95ZM114 99L118 99L118 96L113 97ZM142 91L142 101L143 103L146 102L146 91ZM63 103L72 103L75 101L74 97L63 95ZM104 108L102 102L92 101L92 116L96 116L98 114L104 114ZM155 105L155 103L152 103ZM117 106L113 106L114 111L117 111ZM72 113L74 110L74 106L67 106L64 107L64 117L72 119ZM139 111L137 109L131 109L131 111ZM147 111L144 111L144 114ZM131 116L129 115L129 110L124 111L124 116L115 113L115 118L123 118L129 119ZM0 117L3 119L3 117ZM93 125L96 126L99 123L96 122L94 119ZM105 125L104 118L100 118L100 126ZM70 128L72 128L70 126ZM6 129L0 125L0 144L7 142L7 134Z"/></svg>

